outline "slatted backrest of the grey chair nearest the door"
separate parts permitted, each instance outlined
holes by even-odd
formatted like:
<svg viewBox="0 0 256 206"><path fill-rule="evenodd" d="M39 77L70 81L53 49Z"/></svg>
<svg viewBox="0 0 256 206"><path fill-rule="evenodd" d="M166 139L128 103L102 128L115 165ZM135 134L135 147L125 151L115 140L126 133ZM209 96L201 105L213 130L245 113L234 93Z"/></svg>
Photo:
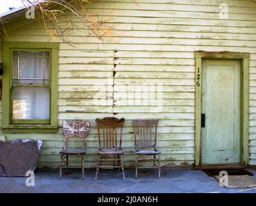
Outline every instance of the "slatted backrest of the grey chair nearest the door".
<svg viewBox="0 0 256 206"><path fill-rule="evenodd" d="M135 149L153 148L157 146L158 120L133 120Z"/></svg>

